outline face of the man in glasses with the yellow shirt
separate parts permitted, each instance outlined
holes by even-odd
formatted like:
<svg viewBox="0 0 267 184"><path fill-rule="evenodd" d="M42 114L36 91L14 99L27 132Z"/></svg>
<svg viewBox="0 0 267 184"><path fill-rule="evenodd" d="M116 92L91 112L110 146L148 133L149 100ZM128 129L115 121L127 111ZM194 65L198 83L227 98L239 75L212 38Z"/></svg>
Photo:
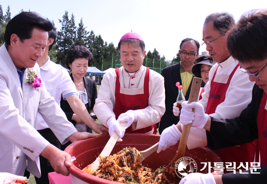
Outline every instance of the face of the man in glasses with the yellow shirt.
<svg viewBox="0 0 267 184"><path fill-rule="evenodd" d="M181 52L185 53L192 53L196 54L194 57L189 57L189 54L186 54L186 56L182 56ZM180 58L181 58L181 63L182 66L185 67L191 67L193 66L193 63L196 61L199 53L198 53L198 47L195 41L193 40L188 40L184 42L179 50Z"/></svg>

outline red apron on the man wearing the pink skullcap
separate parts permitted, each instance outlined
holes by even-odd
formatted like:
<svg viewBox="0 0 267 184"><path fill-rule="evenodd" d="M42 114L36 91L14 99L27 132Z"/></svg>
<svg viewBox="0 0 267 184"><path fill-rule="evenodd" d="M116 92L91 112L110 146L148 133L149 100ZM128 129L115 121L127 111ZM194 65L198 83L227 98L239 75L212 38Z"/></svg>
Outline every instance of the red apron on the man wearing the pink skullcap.
<svg viewBox="0 0 267 184"><path fill-rule="evenodd" d="M120 83L119 83L119 68L116 68L116 89L115 89L115 107L114 113L116 115L116 119L120 114L127 112L128 110L137 110L144 109L149 105L149 68L147 68L145 80L144 80L144 94L135 94L135 95L127 95L120 93ZM124 89L132 91L133 89ZM153 131L153 134L157 133L157 124L151 125L149 127L133 130L133 126L131 125L128 129L126 129L125 133L148 133Z"/></svg>

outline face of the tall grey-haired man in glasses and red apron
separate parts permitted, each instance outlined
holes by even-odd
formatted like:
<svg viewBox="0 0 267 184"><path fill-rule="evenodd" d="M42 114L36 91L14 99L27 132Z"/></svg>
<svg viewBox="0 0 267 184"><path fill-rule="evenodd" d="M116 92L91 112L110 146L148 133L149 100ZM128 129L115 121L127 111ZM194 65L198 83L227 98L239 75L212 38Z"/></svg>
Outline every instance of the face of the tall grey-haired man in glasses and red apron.
<svg viewBox="0 0 267 184"><path fill-rule="evenodd" d="M214 40L221 33L214 31L213 22L210 21L203 27L203 38L202 40L206 43L207 41ZM225 36L220 36L217 38L213 43L213 46L207 44L206 50L209 52L209 55L213 58L216 63L221 63L227 60L231 55L227 48L227 38L228 34L226 33Z"/></svg>

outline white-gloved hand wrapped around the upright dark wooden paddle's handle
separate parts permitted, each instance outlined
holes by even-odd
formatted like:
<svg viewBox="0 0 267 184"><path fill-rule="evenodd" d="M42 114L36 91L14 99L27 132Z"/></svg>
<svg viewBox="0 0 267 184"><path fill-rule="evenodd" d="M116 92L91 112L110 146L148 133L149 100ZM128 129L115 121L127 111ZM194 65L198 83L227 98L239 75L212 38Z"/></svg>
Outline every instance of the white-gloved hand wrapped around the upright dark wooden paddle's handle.
<svg viewBox="0 0 267 184"><path fill-rule="evenodd" d="M184 101L182 103L182 110L180 114L180 123L187 125L192 123L192 127L202 129L208 121L209 115L204 113L203 105L199 102ZM195 113L192 112L192 108L195 109Z"/></svg>

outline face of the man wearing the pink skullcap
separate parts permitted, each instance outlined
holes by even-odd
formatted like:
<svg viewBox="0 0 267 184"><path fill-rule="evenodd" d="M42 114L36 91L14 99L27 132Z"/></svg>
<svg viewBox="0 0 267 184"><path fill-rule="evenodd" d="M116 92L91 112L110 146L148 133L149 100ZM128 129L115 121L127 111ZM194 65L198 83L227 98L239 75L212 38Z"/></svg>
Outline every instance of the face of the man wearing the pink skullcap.
<svg viewBox="0 0 267 184"><path fill-rule="evenodd" d="M146 55L146 51L143 53L140 46L127 42L120 45L119 53L121 65L130 73L140 69Z"/></svg>

